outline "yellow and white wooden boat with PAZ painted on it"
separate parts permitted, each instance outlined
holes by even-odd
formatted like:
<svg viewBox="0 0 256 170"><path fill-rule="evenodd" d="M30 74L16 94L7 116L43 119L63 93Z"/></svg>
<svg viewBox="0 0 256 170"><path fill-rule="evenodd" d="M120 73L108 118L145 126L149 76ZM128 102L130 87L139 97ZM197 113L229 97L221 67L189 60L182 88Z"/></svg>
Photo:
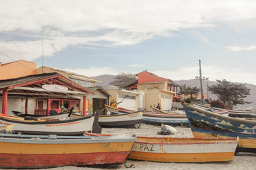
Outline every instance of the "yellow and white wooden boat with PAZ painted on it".
<svg viewBox="0 0 256 170"><path fill-rule="evenodd" d="M137 137L129 159L152 162L227 162L238 138Z"/></svg>

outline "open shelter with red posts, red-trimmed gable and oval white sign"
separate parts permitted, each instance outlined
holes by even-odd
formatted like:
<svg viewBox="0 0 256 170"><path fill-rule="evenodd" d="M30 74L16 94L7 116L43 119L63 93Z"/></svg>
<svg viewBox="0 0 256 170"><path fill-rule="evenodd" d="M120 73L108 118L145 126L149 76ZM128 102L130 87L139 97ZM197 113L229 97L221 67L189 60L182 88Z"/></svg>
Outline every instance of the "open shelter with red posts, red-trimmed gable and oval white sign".
<svg viewBox="0 0 256 170"><path fill-rule="evenodd" d="M7 108L10 108L9 99L22 98L25 101L25 113L28 113L29 106L35 106L34 113L37 115L49 115L52 109L60 113L61 109L57 103L62 105L69 103L71 108L71 102L75 102L79 111L83 108L82 113L85 116L87 94L93 93L56 72L0 80L1 111L5 115L8 113ZM28 99L33 100L34 104L29 104ZM39 101L46 101L47 107L45 109L41 107L43 102Z"/></svg>

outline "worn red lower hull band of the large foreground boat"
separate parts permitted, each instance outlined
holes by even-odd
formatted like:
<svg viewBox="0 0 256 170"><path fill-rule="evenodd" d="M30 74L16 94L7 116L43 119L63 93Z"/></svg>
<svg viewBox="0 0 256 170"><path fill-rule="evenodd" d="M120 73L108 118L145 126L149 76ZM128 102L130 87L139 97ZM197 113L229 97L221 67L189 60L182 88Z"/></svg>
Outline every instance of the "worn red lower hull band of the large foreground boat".
<svg viewBox="0 0 256 170"><path fill-rule="evenodd" d="M1 168L48 168L55 166L84 166L123 164L128 152L87 154L0 154Z"/></svg>

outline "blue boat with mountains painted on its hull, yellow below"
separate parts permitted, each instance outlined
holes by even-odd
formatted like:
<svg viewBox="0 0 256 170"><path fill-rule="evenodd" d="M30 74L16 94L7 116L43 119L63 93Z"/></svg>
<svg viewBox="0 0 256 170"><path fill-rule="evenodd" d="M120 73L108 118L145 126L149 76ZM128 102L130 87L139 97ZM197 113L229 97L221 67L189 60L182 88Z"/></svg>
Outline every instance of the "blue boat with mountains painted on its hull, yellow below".
<svg viewBox="0 0 256 170"><path fill-rule="evenodd" d="M256 152L256 121L219 115L184 103L194 137L239 137L236 152Z"/></svg>

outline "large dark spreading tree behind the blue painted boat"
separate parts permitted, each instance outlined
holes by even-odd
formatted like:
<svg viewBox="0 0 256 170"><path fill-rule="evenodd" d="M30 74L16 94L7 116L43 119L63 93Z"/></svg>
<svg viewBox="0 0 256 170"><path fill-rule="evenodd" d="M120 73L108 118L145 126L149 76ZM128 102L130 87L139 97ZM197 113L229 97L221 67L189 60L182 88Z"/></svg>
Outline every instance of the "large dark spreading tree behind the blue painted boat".
<svg viewBox="0 0 256 170"><path fill-rule="evenodd" d="M228 103L233 102L233 105L238 104L250 104L251 102L244 101L247 95L250 95L250 89L248 89L245 84L235 84L226 79L216 80L218 84L209 86L208 89L211 91L211 94L216 94L216 96L223 102Z"/></svg>

